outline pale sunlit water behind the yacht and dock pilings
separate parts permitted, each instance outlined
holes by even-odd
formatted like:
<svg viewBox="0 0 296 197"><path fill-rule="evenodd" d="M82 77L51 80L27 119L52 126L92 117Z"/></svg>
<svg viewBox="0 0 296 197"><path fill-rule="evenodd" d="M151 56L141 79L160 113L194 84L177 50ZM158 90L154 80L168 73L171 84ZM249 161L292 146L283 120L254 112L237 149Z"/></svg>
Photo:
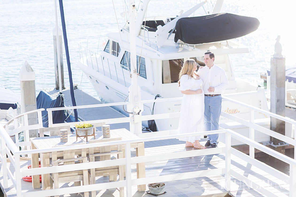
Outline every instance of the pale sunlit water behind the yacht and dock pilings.
<svg viewBox="0 0 296 197"><path fill-rule="evenodd" d="M197 0L152 0L147 16L175 16L181 10L188 10ZM138 5L139 1L136 1ZM97 97L89 80L76 67L79 59L78 42L96 38L107 32L118 31L124 19L123 2L64 0L64 12L73 82L90 95ZM236 77L263 85L260 72L266 72L270 57L274 53L277 35L281 35L283 55L287 64L294 64L295 33L291 21L295 19L295 1L271 3L268 0L224 0L221 12L257 17L260 27L255 32L239 38L250 53L231 55ZM210 7L205 6L205 10ZM199 9L195 15L205 15ZM60 19L58 19L59 24ZM0 1L0 86L20 93L19 70L27 60L36 73L36 93L43 88L55 86L54 55L52 30L55 26L54 1L18 0ZM61 27L61 25L60 25ZM292 48L293 47L293 48ZM64 48L64 46L63 46ZM66 58L64 52L65 86L67 79Z"/></svg>

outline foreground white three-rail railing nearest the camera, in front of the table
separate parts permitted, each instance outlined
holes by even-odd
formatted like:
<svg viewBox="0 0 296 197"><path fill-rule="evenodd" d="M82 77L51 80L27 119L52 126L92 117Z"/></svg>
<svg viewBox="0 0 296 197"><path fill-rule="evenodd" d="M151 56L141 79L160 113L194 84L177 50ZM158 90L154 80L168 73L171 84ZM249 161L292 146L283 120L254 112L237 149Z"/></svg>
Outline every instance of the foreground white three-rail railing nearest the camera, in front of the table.
<svg viewBox="0 0 296 197"><path fill-rule="evenodd" d="M1 129L1 128L0 128ZM54 152L54 151L63 151L63 150L70 150L72 149L82 149L82 148L91 148L91 147L98 147L98 146L110 146L110 145L117 145L117 144L124 144L125 149L129 150L132 143L138 143L138 142L147 142L147 141L155 141L155 140L163 140L163 139L173 139L177 137L185 137L185 136L197 136L197 135L204 135L204 134L213 134L213 133L225 133L226 135L226 147L220 147L215 149L205 149L200 151L186 151L186 152L174 152L174 153L166 153L166 154L155 154L155 155L147 155L147 156L140 156L140 157L131 157L131 152L126 151L126 158L124 159L116 159L116 160L107 160L107 161L99 161L99 162L88 162L88 163L81 163L81 164L72 164L67 166L51 166L51 167L41 167L41 168L33 168L33 169L25 169L20 170L20 155L22 154L41 154L45 152ZM284 173L281 173L277 170L275 170L272 167L269 167L262 162L259 162L256 159L251 158L250 156L243 154L234 148L231 148L231 138L237 139L239 141L242 141L245 144L248 144L250 146L255 147L258 150L261 150L262 152L265 152L273 157L276 157L288 164L290 164L290 175L285 175ZM3 142L4 141L4 142ZM5 142L6 141L6 142ZM5 145L7 144L7 146ZM131 186L133 185L142 185L142 184L148 184L151 182L162 182L162 181L172 181L172 180L182 180L182 179L188 179L188 178L197 178L197 177L204 177L206 176L214 176L214 175L224 175L225 174L225 189L226 191L231 191L231 185L230 185L230 178L231 176L237 178L238 180L243 180L247 185L250 185L252 187L256 186L256 189L263 193L266 196L275 197L276 195L274 193L271 193L268 189L261 187L260 185L256 185L251 179L237 173L235 170L231 170L231 154L240 157L244 161L247 161L251 163L252 165L263 168L264 170L271 175L287 181L287 183L290 184L290 190L289 190L289 196L295 197L296 192L296 161L294 159L291 159L283 154L280 154L272 149L267 148L266 146L259 144L258 142L255 142L253 140L250 140L234 131L231 131L229 129L227 130L218 130L218 131L205 131L205 132L199 132L199 133L186 133L186 134L178 134L178 135L170 135L170 136L157 136L157 137L150 137L150 138L144 138L144 139L133 139L133 140L125 140L125 141L111 141L111 142L104 142L104 143L96 143L96 144L78 144L75 147L67 147L67 146L61 146L61 147L52 147L49 149L33 149L33 150L18 150L15 144L12 142L12 140L9 138L7 133L1 132L1 148L6 146L14 155L14 159L12 157L12 164L15 167L15 174L14 177L10 171L7 171L9 178L12 180L12 183L14 184L16 190L17 190L17 196L54 196L54 195L63 195L66 193L82 193L85 191L93 191L94 188L96 190L101 189L110 189L110 188L119 188L119 187L128 187L126 196L130 197L131 194ZM3 150L3 149L2 149ZM218 168L218 169L210 169L210 170L201 170L201 171L195 171L195 172L185 172L185 173L178 173L178 174L171 174L171 175L162 175L158 177L147 177L147 178L137 178L132 179L131 176L127 175L126 180L124 181L118 181L118 182L112 182L112 183L98 183L93 185L82 185L82 186L75 186L70 188L59 188L59 189L51 189L46 191L32 191L32 192L26 192L22 193L22 182L21 177L22 176L28 176L28 175L39 175L39 174L49 174L54 172L67 172L71 171L73 167L75 167L75 170L83 170L83 169L91 169L96 168L98 165L100 167L107 167L107 166L115 166L115 165L126 165L126 172L131 172L131 165L127 164L137 164L137 163L143 163L143 162L155 162L155 161L161 161L161 160L167 160L167 159L178 159L178 158L184 158L184 157L195 157L200 155L208 155L208 154L225 154L225 167ZM1 154L3 155L3 154ZM4 154L5 155L5 154ZM1 158L2 161L3 157ZM1 161L1 162L2 162ZM3 169L5 168L4 163L2 163ZM75 166L73 166L75 165ZM10 172L10 173L9 173ZM4 177L3 177L4 178ZM4 180L7 180L5 178ZM4 183L7 183L7 181L4 181ZM258 188L257 188L258 186ZM7 185L4 185L4 188L7 188Z"/></svg>

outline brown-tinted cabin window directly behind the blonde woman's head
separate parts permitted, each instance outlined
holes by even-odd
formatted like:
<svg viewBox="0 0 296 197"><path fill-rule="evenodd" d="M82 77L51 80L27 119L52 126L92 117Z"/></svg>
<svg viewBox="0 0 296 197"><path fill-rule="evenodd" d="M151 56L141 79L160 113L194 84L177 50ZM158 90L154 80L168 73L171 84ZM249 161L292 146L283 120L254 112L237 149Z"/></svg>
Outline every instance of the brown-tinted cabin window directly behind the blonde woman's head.
<svg viewBox="0 0 296 197"><path fill-rule="evenodd" d="M183 66L183 62L184 59L163 60L163 84L178 82L179 72Z"/></svg>

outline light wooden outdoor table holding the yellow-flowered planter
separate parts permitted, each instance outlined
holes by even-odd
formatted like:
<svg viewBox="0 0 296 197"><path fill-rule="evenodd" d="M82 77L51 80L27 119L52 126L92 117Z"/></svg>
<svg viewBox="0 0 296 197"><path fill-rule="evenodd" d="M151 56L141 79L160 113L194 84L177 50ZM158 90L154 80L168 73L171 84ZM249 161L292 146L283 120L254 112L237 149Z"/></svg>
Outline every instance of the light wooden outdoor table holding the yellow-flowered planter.
<svg viewBox="0 0 296 197"><path fill-rule="evenodd" d="M110 130L110 138L121 137L122 140L127 139L139 139L138 136L131 133L125 128L121 129L112 129ZM96 139L103 139L103 132L97 131L95 132ZM89 138L89 140L94 139L93 136ZM62 143L60 142L59 136L47 136L47 137L36 137L30 138L31 148L32 149L44 149L44 148L52 148L53 146L58 145L70 145L70 144L79 144L81 142L85 142L85 138L78 138L76 141L76 134L68 135L68 142ZM88 143L88 142L87 142ZM124 146L123 146L124 147ZM144 142L133 143L131 144L131 148L136 148L136 156L144 156ZM50 165L49 158L50 152L42 153L41 156L41 167L48 167ZM31 163L32 167L39 167L39 157L38 154L32 154ZM43 174L42 176L42 190L52 189L52 179L50 178L50 174ZM145 178L145 163L137 164L137 178ZM39 175L34 175L32 177L32 185L33 188L40 188ZM138 185L138 191L145 191L146 185Z"/></svg>

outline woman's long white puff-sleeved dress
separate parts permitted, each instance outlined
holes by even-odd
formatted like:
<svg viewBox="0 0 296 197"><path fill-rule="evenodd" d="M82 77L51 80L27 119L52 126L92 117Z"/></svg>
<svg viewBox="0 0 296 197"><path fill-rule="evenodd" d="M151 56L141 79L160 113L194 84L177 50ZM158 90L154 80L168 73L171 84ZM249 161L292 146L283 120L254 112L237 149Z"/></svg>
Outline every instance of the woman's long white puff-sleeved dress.
<svg viewBox="0 0 296 197"><path fill-rule="evenodd" d="M179 90L197 90L200 89L203 82L201 79L194 80L187 74L181 76ZM178 132L194 133L204 131L204 111L205 111L205 96L201 94L183 95L181 104L181 114L178 126ZM179 138L182 141L194 143L195 140L200 140L201 136Z"/></svg>

